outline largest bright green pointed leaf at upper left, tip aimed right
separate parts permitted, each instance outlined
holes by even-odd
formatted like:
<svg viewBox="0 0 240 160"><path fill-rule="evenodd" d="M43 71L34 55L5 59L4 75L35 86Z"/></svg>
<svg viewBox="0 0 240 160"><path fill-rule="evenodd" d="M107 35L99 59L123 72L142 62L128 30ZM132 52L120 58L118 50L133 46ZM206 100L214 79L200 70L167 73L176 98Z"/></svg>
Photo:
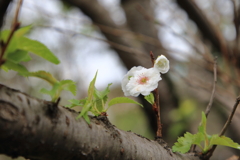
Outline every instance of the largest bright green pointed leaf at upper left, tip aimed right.
<svg viewBox="0 0 240 160"><path fill-rule="evenodd" d="M54 64L59 64L60 61L58 58L41 42L32 40L26 37L19 37L17 39L18 49L32 52L49 62Z"/></svg>

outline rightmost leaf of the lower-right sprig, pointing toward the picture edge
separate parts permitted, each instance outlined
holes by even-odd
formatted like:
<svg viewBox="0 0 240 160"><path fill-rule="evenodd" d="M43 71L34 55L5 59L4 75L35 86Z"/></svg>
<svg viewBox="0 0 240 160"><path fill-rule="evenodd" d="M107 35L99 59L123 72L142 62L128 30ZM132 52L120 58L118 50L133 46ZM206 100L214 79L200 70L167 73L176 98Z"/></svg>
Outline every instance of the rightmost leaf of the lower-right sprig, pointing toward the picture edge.
<svg viewBox="0 0 240 160"><path fill-rule="evenodd" d="M240 149L240 145L238 143L235 143L231 138L226 136L221 136L215 134L212 135L210 139L210 145L222 145L222 146L228 146L236 149Z"/></svg>

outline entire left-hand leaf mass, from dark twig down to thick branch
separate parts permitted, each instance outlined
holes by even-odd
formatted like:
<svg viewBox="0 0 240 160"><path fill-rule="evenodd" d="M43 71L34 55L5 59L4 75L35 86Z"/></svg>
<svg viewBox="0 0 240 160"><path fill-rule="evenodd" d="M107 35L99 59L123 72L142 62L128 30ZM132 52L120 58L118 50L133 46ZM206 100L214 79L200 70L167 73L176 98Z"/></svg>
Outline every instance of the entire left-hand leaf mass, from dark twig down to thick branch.
<svg viewBox="0 0 240 160"><path fill-rule="evenodd" d="M38 77L46 80L52 85L52 89L47 90L43 88L41 92L50 95L53 102L57 100L63 90L70 91L73 95L76 95L76 85L72 80L58 81L46 71L29 72L27 68L21 64L22 62L31 60L29 53L36 54L54 64L60 63L58 58L44 44L25 37L25 34L27 34L31 28L32 26L29 25L14 32L4 53L4 63L1 65L1 68L6 72L8 72L8 70L14 70L25 77ZM10 32L10 30L1 32L1 40L3 43L6 43Z"/></svg>

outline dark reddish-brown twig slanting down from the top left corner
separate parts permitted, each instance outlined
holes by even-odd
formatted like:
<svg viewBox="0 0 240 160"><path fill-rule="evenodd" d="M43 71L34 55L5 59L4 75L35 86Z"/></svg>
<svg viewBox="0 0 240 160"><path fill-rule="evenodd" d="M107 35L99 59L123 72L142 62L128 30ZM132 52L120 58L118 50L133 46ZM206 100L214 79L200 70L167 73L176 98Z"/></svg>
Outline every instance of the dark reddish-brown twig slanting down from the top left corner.
<svg viewBox="0 0 240 160"><path fill-rule="evenodd" d="M15 13L13 23L12 23L11 32L8 36L8 39L7 39L6 43L4 43L3 41L1 43L0 66L4 63L3 56L4 56L4 53L6 52L6 49L9 45L12 37L13 37L13 34L18 29L18 27L20 26L20 22L18 22L18 15L19 15L19 11L20 11L20 7L22 5L22 2L23 2L23 0L18 1L16 13Z"/></svg>

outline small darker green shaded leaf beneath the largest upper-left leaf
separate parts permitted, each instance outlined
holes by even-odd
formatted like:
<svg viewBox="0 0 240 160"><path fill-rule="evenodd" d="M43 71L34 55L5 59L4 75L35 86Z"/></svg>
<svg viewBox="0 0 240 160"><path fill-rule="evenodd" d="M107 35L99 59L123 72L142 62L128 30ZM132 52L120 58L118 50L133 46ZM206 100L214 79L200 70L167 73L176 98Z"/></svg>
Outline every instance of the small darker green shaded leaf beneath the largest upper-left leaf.
<svg viewBox="0 0 240 160"><path fill-rule="evenodd" d="M32 58L29 56L28 52L23 50L16 50L6 56L6 60L11 60L14 63L27 62L31 59Z"/></svg>

